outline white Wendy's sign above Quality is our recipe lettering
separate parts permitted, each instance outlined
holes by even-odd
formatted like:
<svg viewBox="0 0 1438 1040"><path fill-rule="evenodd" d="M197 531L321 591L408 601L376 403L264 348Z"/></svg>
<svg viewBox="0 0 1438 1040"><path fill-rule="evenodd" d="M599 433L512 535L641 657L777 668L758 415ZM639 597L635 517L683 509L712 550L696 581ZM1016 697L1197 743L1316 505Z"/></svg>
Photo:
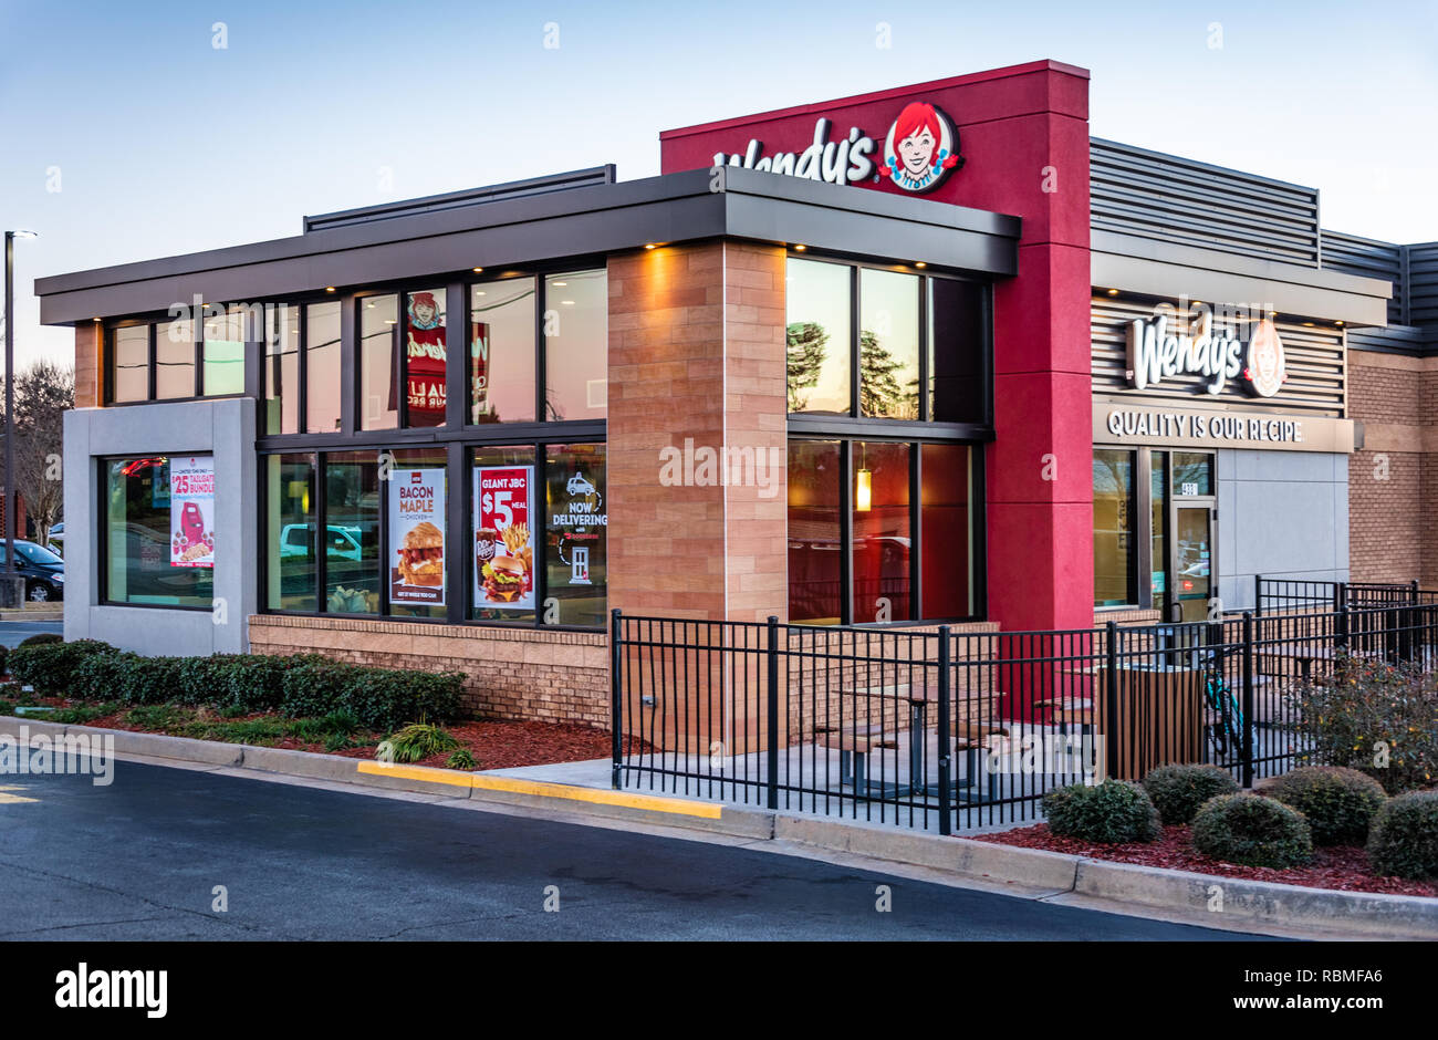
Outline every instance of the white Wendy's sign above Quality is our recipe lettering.
<svg viewBox="0 0 1438 1040"><path fill-rule="evenodd" d="M1214 332L1214 312L1196 305L1198 318L1181 329L1169 314L1129 322L1129 383L1136 390L1178 374L1202 375L1204 390L1218 396L1229 380L1241 380L1257 397L1273 397L1288 373L1283 339L1268 318L1255 322L1245 344Z"/></svg>

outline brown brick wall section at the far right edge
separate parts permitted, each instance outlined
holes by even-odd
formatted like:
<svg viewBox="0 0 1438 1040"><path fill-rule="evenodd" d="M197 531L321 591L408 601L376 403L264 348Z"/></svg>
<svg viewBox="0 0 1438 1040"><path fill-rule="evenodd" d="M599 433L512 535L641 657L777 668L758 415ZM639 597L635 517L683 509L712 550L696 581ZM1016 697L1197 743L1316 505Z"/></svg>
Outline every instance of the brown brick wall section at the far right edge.
<svg viewBox="0 0 1438 1040"><path fill-rule="evenodd" d="M1349 575L1438 587L1438 367L1432 358L1349 351Z"/></svg>

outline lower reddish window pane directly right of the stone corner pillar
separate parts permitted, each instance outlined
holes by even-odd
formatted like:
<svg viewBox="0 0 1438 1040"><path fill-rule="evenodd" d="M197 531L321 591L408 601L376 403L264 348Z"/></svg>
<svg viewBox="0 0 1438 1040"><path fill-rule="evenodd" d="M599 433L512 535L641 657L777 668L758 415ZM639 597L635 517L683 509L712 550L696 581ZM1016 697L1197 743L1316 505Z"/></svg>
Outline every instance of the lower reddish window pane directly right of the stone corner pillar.
<svg viewBox="0 0 1438 1040"><path fill-rule="evenodd" d="M789 620L837 624L844 590L841 443L789 442Z"/></svg>

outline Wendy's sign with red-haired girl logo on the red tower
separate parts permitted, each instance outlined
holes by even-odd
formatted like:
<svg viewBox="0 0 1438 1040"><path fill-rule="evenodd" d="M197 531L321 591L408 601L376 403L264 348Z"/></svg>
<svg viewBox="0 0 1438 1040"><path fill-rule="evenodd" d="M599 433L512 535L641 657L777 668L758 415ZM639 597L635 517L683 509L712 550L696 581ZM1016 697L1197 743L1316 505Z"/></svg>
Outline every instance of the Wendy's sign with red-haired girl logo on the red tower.
<svg viewBox="0 0 1438 1040"><path fill-rule="evenodd" d="M751 138L742 154L715 152L715 165L736 165L828 184L879 183L886 177L905 191L925 193L963 165L959 132L938 106L923 101L905 105L879 142L858 127L848 135L830 140L833 121L814 122L814 137L804 151L778 151L764 155L764 142Z"/></svg>

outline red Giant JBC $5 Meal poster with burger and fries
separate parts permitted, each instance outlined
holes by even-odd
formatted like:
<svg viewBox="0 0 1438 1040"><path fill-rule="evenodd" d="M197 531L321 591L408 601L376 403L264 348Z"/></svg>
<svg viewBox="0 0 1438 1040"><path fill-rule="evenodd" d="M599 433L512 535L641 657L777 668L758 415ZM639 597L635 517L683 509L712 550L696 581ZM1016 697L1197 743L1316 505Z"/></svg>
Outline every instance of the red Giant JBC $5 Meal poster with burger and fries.
<svg viewBox="0 0 1438 1040"><path fill-rule="evenodd" d="M475 603L535 608L533 466L475 467Z"/></svg>

